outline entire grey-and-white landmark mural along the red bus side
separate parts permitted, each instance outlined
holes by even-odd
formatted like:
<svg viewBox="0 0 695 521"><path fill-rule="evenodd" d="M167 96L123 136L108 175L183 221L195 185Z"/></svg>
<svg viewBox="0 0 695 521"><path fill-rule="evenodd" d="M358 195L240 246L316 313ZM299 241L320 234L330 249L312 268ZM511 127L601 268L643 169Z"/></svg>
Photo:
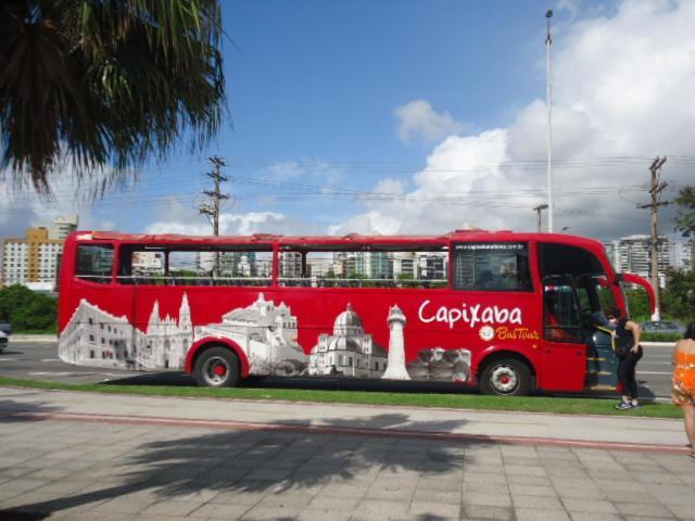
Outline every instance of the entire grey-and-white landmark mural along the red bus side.
<svg viewBox="0 0 695 521"><path fill-rule="evenodd" d="M266 301L232 309L219 323L193 326L184 293L178 316L162 316L152 305L143 329L81 300L59 339L63 361L124 369L181 369L192 343L203 338L228 339L247 355L253 374L336 374L352 378L466 382L470 351L421 350L406 366L404 328L399 306L389 308L389 351L374 342L350 304L321 333L307 356L298 343L298 318L285 303Z"/></svg>

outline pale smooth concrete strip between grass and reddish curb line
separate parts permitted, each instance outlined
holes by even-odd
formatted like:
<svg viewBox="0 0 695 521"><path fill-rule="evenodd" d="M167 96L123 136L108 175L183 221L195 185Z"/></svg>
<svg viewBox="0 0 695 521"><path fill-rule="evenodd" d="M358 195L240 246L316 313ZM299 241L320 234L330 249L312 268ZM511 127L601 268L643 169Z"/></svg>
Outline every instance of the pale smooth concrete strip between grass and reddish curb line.
<svg viewBox="0 0 695 521"><path fill-rule="evenodd" d="M460 409L119 396L0 387L0 414L147 424L181 424L353 434L400 434L576 446L683 452L681 420L493 412Z"/></svg>

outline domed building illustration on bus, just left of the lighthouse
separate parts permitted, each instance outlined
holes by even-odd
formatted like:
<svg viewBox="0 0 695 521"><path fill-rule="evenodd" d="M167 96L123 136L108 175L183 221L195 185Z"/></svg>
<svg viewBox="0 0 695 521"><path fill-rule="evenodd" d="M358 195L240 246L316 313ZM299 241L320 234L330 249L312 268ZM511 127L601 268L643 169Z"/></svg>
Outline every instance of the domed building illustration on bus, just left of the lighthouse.
<svg viewBox="0 0 695 521"><path fill-rule="evenodd" d="M333 322L333 334L323 333L312 350L309 374L380 378L387 369L387 353L365 333L362 318L348 304Z"/></svg>

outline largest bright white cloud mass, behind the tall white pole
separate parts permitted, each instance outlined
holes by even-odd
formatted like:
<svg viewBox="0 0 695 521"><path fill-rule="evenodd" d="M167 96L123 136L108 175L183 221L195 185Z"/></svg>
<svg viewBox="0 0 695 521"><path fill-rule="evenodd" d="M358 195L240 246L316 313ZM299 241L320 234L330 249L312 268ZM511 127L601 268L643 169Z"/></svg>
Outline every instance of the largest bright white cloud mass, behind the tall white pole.
<svg viewBox="0 0 695 521"><path fill-rule="evenodd" d="M677 157L694 152L693 26L695 2L626 1L612 17L569 25L557 40L556 230L569 226L570 232L601 238L648 232L648 214L634 203L648 198L640 187L646 187L656 155L672 156L665 167L671 187L693 182ZM421 114L431 112L427 102L419 103ZM402 200L369 201L365 213L331 230L442 232L466 223L533 230L532 208L546 198L546 117L545 102L533 100L506 128L444 139ZM426 134L421 128L412 123L402 137ZM667 209L661 227L667 233L668 217Z"/></svg>

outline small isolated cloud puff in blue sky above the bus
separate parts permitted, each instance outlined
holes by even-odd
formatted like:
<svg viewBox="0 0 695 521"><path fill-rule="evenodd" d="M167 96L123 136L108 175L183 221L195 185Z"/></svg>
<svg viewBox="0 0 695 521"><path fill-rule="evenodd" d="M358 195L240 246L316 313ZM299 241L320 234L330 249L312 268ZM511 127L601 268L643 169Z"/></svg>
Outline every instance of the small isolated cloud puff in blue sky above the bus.
<svg viewBox="0 0 695 521"><path fill-rule="evenodd" d="M394 111L394 115L399 120L399 138L406 143L418 139L425 143L433 143L465 128L447 112L434 112L427 100L415 100L401 105Z"/></svg>

